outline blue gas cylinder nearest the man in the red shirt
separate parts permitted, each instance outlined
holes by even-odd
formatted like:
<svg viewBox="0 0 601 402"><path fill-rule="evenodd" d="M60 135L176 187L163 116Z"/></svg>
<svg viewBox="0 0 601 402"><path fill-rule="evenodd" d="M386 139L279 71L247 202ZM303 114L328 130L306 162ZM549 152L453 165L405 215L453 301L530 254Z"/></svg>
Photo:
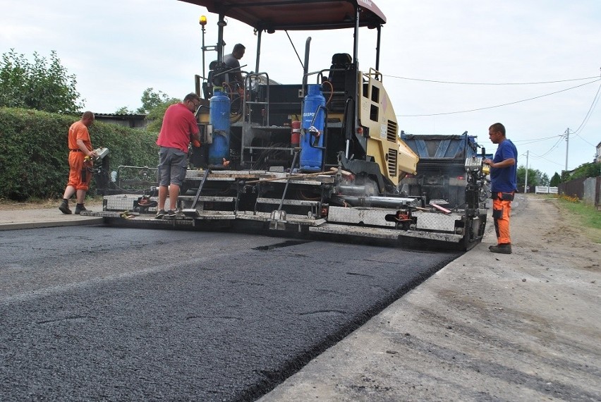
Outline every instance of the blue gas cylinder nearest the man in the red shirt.
<svg viewBox="0 0 601 402"><path fill-rule="evenodd" d="M229 159L230 103L223 88L213 88L209 112L209 123L213 126L213 143L209 147L210 166L223 166L224 159Z"/></svg>

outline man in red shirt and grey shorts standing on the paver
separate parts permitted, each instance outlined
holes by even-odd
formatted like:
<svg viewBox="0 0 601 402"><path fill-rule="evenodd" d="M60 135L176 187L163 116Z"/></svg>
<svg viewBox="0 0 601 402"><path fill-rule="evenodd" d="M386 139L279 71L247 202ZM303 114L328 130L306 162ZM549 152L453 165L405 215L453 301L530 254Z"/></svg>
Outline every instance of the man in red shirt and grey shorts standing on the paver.
<svg viewBox="0 0 601 402"><path fill-rule="evenodd" d="M200 97L190 93L182 102L172 104L165 111L157 145L159 150L159 205L156 219L175 219L183 214L177 210L177 197L188 169L188 144L190 139L200 145L200 131L195 111ZM169 195L169 209L165 202Z"/></svg>

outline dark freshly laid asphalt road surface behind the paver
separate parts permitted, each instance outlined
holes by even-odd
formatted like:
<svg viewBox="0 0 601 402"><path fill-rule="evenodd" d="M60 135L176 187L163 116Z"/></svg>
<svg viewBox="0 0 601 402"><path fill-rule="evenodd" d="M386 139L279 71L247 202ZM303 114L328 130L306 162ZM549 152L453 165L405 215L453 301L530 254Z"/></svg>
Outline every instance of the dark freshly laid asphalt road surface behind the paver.
<svg viewBox="0 0 601 402"><path fill-rule="evenodd" d="M0 232L0 395L252 401L458 256L103 226Z"/></svg>

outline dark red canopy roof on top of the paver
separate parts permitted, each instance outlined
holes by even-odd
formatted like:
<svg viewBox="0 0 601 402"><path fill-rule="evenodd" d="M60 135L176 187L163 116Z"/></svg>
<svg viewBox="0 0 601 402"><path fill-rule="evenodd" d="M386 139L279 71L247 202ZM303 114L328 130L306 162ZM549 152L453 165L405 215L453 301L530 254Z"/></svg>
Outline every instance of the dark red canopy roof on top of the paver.
<svg viewBox="0 0 601 402"><path fill-rule="evenodd" d="M376 28L386 17L371 0L180 0L224 14L257 30L326 30L353 28L356 7L360 26Z"/></svg>

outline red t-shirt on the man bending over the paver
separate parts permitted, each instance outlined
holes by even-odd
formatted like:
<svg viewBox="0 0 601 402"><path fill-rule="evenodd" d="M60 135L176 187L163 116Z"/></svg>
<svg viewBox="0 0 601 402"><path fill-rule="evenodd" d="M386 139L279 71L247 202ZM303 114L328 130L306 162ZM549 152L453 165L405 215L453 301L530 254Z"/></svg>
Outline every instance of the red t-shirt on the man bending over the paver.
<svg viewBox="0 0 601 402"><path fill-rule="evenodd" d="M172 104L165 111L157 145L188 152L190 134L198 133L196 118L190 109L181 103Z"/></svg>

